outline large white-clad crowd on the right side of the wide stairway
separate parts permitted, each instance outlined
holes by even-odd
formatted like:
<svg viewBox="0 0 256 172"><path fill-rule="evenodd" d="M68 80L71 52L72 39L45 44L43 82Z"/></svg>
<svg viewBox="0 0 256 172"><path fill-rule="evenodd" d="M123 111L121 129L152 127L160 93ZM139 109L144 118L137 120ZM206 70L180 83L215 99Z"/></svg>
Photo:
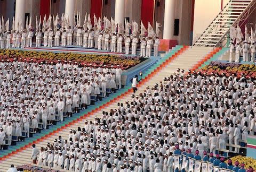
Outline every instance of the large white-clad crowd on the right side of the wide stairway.
<svg viewBox="0 0 256 172"><path fill-rule="evenodd" d="M244 77L177 70L70 130L68 140L47 143L37 163L71 171L172 171L174 145L204 157L254 134L255 88Z"/></svg>

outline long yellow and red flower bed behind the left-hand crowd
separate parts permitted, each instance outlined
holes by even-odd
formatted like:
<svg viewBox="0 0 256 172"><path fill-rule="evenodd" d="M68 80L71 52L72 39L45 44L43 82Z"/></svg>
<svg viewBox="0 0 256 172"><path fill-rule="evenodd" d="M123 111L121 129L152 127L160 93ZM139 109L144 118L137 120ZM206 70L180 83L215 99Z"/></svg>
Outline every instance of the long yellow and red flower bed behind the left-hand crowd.
<svg viewBox="0 0 256 172"><path fill-rule="evenodd" d="M17 58L19 61L33 61L33 62L53 62L57 63L58 59L62 62L72 61L78 62L81 67L89 66L89 64L97 65L120 65L123 70L133 67L146 58L141 57L127 57L127 56L115 56L115 55L92 55L92 54L75 54L75 53L51 53L44 51L22 51L12 49L0 49L0 60L13 61Z"/></svg>

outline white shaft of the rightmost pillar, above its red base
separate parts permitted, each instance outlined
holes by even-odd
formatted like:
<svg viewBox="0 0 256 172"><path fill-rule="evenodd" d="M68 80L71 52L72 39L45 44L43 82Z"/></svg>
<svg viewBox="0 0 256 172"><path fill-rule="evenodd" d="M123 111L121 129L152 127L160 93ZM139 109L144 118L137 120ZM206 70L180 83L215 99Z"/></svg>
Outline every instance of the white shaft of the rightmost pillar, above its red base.
<svg viewBox="0 0 256 172"><path fill-rule="evenodd" d="M173 39L174 18L175 18L175 0L165 0L163 39Z"/></svg>

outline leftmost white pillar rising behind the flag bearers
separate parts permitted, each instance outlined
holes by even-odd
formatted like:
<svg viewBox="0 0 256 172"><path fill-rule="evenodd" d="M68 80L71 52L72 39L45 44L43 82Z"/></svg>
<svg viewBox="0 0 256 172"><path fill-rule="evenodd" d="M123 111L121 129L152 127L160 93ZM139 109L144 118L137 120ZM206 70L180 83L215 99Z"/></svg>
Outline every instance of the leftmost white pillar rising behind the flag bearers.
<svg viewBox="0 0 256 172"><path fill-rule="evenodd" d="M23 28L25 26L25 10L26 10L26 0L16 0L16 5L15 5L15 29L16 30L18 30L18 21L21 21Z"/></svg>

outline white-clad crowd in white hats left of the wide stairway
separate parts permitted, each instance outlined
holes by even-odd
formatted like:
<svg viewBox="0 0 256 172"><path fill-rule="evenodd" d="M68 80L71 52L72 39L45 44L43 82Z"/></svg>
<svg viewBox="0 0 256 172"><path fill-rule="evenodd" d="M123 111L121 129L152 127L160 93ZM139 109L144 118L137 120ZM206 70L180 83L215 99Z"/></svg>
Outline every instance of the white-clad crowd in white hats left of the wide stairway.
<svg viewBox="0 0 256 172"><path fill-rule="evenodd" d="M121 88L122 69L106 65L78 67L77 62L0 63L0 145L11 145L12 136L21 139L22 131L43 128L58 116L71 116L78 108L91 104L91 95L106 96L106 89ZM101 90L100 90L101 88ZM58 113L57 113L58 112ZM57 115L58 114L58 115Z"/></svg>

